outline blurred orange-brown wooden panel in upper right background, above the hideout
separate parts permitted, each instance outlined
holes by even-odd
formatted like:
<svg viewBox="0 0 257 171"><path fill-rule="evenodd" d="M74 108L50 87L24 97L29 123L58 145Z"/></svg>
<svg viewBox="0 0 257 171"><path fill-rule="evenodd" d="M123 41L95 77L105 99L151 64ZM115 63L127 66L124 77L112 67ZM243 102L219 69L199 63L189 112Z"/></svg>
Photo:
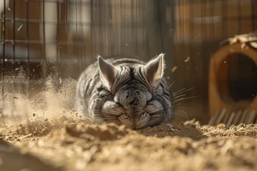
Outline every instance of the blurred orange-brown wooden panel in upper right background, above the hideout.
<svg viewBox="0 0 257 171"><path fill-rule="evenodd" d="M257 15L253 5L257 6L254 0L175 0L176 42L189 43L192 37L194 42L220 41L248 33Z"/></svg>

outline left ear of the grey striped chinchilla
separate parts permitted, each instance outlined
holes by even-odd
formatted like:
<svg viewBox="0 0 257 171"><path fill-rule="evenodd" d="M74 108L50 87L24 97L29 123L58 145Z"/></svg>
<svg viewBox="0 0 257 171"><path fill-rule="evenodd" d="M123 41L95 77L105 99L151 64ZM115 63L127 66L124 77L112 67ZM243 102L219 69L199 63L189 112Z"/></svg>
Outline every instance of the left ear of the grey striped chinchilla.
<svg viewBox="0 0 257 171"><path fill-rule="evenodd" d="M111 87L118 73L117 68L113 64L107 63L101 56L98 56L98 65L100 78Z"/></svg>

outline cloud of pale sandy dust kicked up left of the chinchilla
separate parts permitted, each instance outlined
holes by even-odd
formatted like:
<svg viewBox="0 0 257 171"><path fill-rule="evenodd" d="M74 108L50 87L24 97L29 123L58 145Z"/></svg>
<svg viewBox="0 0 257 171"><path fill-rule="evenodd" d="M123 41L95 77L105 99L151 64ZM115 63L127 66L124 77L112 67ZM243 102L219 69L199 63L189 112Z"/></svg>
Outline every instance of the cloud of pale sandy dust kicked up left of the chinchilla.
<svg viewBox="0 0 257 171"><path fill-rule="evenodd" d="M86 118L73 109L76 80L68 78L62 84L58 81L49 76L45 83L28 85L23 72L5 76L1 83L4 93L0 97L0 129L19 125L20 134L43 135L78 117L85 122Z"/></svg>

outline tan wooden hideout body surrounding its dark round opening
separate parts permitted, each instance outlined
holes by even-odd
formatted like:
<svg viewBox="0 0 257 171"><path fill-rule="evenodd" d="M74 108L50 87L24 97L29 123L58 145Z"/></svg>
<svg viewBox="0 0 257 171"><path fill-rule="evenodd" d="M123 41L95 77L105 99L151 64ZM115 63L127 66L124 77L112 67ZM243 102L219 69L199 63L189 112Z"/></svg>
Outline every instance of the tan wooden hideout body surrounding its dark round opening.
<svg viewBox="0 0 257 171"><path fill-rule="evenodd" d="M257 33L249 33L229 38L221 43L210 59L209 72L209 109L211 125L228 123L228 125L257 122L257 97L252 101L234 101L230 98L228 73L234 55L243 54L257 65ZM249 67L251 67L249 65ZM255 66L256 67L256 66ZM237 73L244 70L236 69ZM235 75L236 75L235 72ZM248 77L246 75L245 77ZM253 95L254 96L254 95ZM225 97L225 98L224 98ZM213 117L215 120L213 121ZM244 122L248 118L247 122ZM212 123L215 122L215 123Z"/></svg>

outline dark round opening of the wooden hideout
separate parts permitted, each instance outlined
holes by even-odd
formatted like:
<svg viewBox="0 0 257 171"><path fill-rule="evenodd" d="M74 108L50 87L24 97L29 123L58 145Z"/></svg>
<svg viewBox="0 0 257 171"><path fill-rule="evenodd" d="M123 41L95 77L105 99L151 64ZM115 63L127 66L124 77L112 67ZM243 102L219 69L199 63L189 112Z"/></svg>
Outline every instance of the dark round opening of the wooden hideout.
<svg viewBox="0 0 257 171"><path fill-rule="evenodd" d="M225 75L223 79L217 79L218 91L225 103L249 104L254 101L257 95L257 64L251 58L240 53L232 54L223 61L218 73L218 77Z"/></svg>

